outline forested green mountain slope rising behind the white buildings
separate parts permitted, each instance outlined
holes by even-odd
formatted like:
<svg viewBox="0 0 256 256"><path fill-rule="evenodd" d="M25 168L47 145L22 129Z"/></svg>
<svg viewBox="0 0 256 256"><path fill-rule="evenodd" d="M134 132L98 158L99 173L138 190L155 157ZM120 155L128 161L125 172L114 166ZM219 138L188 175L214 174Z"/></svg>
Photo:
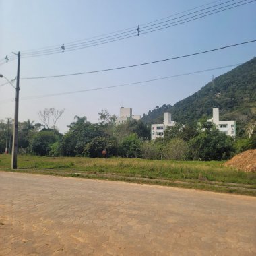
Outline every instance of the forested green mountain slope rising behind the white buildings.
<svg viewBox="0 0 256 256"><path fill-rule="evenodd" d="M145 123L162 123L163 113L172 113L183 124L212 117L212 108L220 108L220 120L250 121L256 116L256 57L232 71L216 77L201 90L170 106L164 104L144 114Z"/></svg>

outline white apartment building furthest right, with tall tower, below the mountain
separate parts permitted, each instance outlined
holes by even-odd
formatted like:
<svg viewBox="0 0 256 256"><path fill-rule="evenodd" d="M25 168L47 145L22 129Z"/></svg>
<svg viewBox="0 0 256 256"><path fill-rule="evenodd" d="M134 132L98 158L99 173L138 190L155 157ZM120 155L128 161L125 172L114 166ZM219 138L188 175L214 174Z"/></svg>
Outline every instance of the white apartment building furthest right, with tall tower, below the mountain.
<svg viewBox="0 0 256 256"><path fill-rule="evenodd" d="M212 108L212 119L207 121L214 123L217 129L226 135L236 137L236 121L220 121L219 108Z"/></svg>

